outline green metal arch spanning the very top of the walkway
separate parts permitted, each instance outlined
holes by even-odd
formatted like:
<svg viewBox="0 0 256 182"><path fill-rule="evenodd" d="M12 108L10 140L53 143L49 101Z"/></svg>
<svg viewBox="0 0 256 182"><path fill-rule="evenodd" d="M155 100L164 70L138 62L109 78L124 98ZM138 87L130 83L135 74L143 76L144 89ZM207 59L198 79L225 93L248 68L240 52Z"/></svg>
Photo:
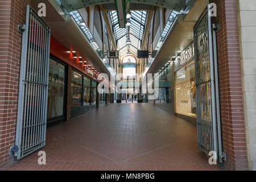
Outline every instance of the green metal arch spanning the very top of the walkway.
<svg viewBox="0 0 256 182"><path fill-rule="evenodd" d="M189 2L193 0L131 0L131 3L141 3L152 6L164 7L175 11L180 11L185 8ZM104 5L108 3L114 3L114 0L57 0L68 12L81 9L83 7Z"/></svg>

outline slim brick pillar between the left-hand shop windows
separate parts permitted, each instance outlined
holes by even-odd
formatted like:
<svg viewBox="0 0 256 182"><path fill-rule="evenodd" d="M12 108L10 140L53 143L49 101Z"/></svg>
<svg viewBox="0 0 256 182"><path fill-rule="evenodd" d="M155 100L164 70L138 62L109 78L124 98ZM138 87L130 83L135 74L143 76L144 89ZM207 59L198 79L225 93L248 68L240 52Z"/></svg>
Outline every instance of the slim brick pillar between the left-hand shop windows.
<svg viewBox="0 0 256 182"><path fill-rule="evenodd" d="M68 89L67 89L67 121L71 118L72 106L72 66L68 65Z"/></svg>

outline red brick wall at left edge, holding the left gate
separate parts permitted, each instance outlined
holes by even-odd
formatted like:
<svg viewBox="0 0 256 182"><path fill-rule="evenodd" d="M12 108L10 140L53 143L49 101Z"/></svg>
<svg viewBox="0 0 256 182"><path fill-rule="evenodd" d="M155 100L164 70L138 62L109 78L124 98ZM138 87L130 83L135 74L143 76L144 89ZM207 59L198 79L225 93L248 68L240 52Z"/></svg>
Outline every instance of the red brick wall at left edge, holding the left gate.
<svg viewBox="0 0 256 182"><path fill-rule="evenodd" d="M0 1L0 166L13 160L22 45L17 30L26 22L27 4L30 0Z"/></svg>

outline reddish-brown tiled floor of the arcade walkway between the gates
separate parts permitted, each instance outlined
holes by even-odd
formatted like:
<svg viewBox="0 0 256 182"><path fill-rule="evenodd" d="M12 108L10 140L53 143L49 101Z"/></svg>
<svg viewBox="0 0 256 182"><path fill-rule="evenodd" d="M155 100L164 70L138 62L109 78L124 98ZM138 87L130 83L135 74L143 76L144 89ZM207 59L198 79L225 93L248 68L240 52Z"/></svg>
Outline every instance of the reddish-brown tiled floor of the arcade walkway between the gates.
<svg viewBox="0 0 256 182"><path fill-rule="evenodd" d="M220 170L197 148L196 126L149 104L108 104L47 129L38 152L3 170Z"/></svg>

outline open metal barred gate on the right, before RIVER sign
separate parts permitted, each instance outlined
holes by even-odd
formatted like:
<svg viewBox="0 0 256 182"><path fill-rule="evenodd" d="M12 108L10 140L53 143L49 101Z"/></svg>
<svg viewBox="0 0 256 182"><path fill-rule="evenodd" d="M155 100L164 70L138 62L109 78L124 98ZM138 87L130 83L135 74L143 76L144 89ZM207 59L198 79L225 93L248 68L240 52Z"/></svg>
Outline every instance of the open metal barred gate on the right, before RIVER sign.
<svg viewBox="0 0 256 182"><path fill-rule="evenodd" d="M197 140L202 151L207 154L215 151L216 158L222 162L216 30L208 13L209 6L194 27Z"/></svg>

